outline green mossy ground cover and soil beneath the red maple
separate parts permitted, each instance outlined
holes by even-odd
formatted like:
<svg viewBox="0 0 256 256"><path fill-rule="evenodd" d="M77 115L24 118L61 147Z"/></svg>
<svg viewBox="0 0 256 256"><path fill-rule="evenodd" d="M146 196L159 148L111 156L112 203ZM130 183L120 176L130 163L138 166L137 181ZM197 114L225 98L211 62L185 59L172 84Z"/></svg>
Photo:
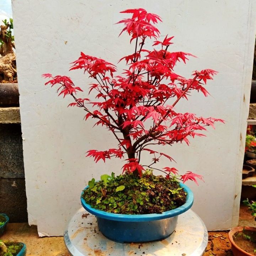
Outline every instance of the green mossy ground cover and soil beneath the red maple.
<svg viewBox="0 0 256 256"><path fill-rule="evenodd" d="M82 195L86 203L111 213L162 213L183 205L187 195L175 178L167 180L151 172L145 172L141 178L112 174L107 182L104 176L99 182L93 179L89 185Z"/></svg>

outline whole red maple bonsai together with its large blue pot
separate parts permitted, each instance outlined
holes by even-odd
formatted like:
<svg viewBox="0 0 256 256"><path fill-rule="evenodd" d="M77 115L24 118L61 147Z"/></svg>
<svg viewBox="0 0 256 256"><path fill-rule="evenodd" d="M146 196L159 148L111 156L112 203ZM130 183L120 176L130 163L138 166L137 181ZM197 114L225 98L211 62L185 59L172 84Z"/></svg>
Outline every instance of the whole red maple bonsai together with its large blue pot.
<svg viewBox="0 0 256 256"><path fill-rule="evenodd" d="M77 97L76 93L83 90L67 76L43 76L50 79L46 85L58 85L59 95L74 99L69 106L83 108L86 120L95 119L96 125L108 129L117 140L116 148L89 150L87 156L95 162L111 158L125 161L122 175L112 172L102 175L100 181L94 178L89 181L81 194L84 208L97 216L99 229L112 240L159 240L175 230L178 215L192 206L193 193L183 183L187 180L197 183L202 176L191 171L178 175L173 166L161 167L162 158L174 160L158 149L182 142L189 145L189 138L204 136L201 132L207 126L223 122L175 109L193 91L207 96L207 80L217 72L193 71L188 79L176 74L176 64L186 63L188 57L194 56L169 51L173 37L160 40L156 23L161 18L144 9L122 13L132 17L118 22L124 24L121 34L127 32L134 43L133 53L119 60L127 65L120 72L122 75L113 75L117 68L110 62L84 53L70 69L82 69L95 79L89 90L96 93L96 100ZM145 48L151 39L155 48ZM155 145L157 150L153 149ZM145 162L145 154L152 156L151 162ZM164 176L153 175L153 170L161 171Z"/></svg>

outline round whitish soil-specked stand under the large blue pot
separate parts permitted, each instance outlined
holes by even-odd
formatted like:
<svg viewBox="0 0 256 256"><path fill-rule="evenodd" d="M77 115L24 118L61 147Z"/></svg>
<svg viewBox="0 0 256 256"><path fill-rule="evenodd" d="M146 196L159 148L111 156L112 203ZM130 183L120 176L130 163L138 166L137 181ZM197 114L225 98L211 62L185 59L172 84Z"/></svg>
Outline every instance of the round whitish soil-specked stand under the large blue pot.
<svg viewBox="0 0 256 256"><path fill-rule="evenodd" d="M98 230L96 217L81 208L70 220L64 240L72 256L202 256L208 243L206 226L192 210L178 217L174 233L161 241L118 243Z"/></svg>

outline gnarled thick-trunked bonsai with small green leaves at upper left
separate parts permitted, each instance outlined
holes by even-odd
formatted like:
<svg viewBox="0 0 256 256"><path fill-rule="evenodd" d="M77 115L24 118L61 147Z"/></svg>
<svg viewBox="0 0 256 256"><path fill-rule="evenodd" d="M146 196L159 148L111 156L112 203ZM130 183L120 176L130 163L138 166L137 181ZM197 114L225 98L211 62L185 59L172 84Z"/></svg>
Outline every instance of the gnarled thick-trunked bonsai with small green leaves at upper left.
<svg viewBox="0 0 256 256"><path fill-rule="evenodd" d="M17 82L15 44L12 36L13 20L2 21L0 28L0 82Z"/></svg>

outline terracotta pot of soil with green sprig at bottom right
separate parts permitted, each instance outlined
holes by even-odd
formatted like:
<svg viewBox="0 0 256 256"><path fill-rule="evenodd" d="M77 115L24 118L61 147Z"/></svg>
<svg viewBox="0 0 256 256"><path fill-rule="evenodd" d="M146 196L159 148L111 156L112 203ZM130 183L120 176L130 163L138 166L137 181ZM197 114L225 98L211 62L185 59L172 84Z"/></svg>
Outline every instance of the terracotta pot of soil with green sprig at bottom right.
<svg viewBox="0 0 256 256"><path fill-rule="evenodd" d="M251 215L256 216L256 202L249 202L248 198L243 201L252 211ZM236 227L229 231L229 241L234 256L256 255L256 228L244 226Z"/></svg>

